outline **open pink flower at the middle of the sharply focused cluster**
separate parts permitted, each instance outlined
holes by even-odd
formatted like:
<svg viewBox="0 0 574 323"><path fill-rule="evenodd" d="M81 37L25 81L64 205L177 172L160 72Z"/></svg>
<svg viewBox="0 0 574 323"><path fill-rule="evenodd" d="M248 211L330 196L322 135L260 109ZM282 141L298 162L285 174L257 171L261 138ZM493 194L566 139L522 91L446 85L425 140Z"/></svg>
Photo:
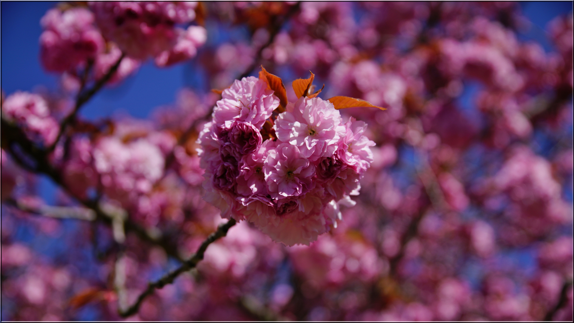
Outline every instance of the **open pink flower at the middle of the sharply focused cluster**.
<svg viewBox="0 0 574 323"><path fill-rule="evenodd" d="M269 151L263 171L273 198L298 196L315 186L315 166L293 145L280 144Z"/></svg>

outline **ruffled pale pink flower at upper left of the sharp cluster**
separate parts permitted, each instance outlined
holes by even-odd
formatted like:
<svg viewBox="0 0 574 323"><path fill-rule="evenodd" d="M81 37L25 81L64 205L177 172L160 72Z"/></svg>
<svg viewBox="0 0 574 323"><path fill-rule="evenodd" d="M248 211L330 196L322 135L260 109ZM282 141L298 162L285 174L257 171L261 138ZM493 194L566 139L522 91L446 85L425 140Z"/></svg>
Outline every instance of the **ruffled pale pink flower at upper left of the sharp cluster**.
<svg viewBox="0 0 574 323"><path fill-rule="evenodd" d="M250 122L261 128L277 107L279 99L267 90L267 83L249 76L235 80L229 89L222 93L214 108L213 118L218 126L231 128L234 121Z"/></svg>

